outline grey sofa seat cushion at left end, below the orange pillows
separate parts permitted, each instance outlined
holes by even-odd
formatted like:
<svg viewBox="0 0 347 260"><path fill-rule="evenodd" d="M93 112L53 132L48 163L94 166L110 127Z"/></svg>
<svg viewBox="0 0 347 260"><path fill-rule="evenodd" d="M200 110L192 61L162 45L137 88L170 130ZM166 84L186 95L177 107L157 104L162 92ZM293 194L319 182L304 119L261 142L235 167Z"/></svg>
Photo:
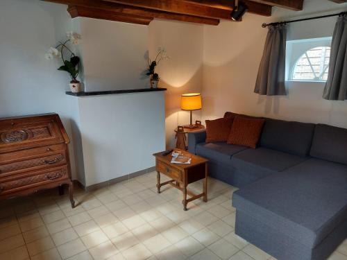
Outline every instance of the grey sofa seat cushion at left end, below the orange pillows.
<svg viewBox="0 0 347 260"><path fill-rule="evenodd" d="M196 145L196 155L211 159L214 162L230 164L230 159L235 153L247 149L244 146L235 146L226 143L201 143Z"/></svg>

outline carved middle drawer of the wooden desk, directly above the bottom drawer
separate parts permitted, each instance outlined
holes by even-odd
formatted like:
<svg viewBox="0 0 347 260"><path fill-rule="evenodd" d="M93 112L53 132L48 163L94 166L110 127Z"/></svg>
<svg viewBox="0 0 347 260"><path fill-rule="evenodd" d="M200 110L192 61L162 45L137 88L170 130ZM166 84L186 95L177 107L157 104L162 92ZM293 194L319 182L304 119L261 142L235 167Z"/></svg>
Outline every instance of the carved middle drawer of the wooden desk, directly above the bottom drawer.
<svg viewBox="0 0 347 260"><path fill-rule="evenodd" d="M15 175L24 171L35 171L40 168L52 168L66 164L67 158L65 150L60 150L58 153L44 155L31 159L17 160L17 162L3 163L0 161L0 178L8 175Z"/></svg>

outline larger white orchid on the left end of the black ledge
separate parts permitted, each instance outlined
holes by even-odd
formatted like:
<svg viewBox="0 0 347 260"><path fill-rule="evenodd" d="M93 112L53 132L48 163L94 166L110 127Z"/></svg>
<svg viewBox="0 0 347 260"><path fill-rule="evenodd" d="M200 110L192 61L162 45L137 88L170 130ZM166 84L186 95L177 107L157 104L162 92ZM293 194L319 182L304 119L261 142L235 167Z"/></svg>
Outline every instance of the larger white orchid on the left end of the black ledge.
<svg viewBox="0 0 347 260"><path fill-rule="evenodd" d="M80 58L75 55L67 46L68 42L71 44L78 44L79 40L81 40L81 35L74 32L67 32L67 40L65 42L58 42L58 45L54 47L50 47L48 52L44 55L47 60L52 60L54 58L62 58L62 63L64 65L58 68L59 71L67 71L69 76L71 77L71 83L79 83L77 80L77 76L79 73L78 64L80 63ZM68 53L70 58L69 60L64 58L64 53Z"/></svg>

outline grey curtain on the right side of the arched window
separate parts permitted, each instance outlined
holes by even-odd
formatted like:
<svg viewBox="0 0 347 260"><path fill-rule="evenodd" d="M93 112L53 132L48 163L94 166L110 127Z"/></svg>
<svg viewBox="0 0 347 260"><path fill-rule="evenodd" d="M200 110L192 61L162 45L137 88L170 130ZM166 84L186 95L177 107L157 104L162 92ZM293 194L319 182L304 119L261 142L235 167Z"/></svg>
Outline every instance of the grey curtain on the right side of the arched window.
<svg viewBox="0 0 347 260"><path fill-rule="evenodd" d="M323 98L332 101L347 99L347 17L339 17L335 25L330 51L328 80Z"/></svg>

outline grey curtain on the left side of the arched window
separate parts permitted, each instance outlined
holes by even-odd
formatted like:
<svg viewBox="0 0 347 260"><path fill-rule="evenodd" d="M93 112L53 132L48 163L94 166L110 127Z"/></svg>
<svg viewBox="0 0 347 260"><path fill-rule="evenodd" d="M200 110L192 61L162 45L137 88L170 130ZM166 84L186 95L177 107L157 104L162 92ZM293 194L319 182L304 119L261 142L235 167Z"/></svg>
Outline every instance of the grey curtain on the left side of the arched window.
<svg viewBox="0 0 347 260"><path fill-rule="evenodd" d="M254 92L260 95L280 96L285 92L285 24L269 26L262 61L260 62Z"/></svg>

